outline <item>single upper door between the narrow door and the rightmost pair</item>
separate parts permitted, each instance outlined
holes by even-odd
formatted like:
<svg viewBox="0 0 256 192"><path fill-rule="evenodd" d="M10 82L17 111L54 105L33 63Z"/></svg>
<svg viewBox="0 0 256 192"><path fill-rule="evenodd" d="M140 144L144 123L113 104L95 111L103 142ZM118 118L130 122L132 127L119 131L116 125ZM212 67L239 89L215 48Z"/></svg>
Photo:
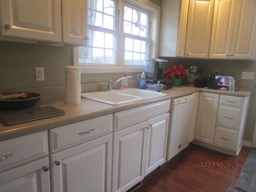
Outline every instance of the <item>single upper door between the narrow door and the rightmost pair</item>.
<svg viewBox="0 0 256 192"><path fill-rule="evenodd" d="M213 7L214 0L190 0L186 57L208 57Z"/></svg>

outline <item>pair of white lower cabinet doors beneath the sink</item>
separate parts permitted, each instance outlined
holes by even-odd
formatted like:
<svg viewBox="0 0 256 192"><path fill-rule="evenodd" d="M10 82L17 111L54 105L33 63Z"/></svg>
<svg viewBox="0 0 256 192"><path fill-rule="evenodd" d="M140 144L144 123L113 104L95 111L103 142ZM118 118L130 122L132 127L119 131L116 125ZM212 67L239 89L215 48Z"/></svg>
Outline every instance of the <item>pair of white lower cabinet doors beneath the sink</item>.
<svg viewBox="0 0 256 192"><path fill-rule="evenodd" d="M166 161L170 113L114 132L112 191L125 192Z"/></svg>

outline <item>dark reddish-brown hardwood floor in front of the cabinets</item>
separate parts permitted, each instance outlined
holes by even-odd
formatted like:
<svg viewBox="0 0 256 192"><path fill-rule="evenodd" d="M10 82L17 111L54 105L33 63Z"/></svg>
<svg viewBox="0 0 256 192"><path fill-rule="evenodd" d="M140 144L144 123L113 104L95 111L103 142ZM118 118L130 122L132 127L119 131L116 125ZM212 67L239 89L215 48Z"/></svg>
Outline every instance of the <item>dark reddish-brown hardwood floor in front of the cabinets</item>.
<svg viewBox="0 0 256 192"><path fill-rule="evenodd" d="M142 181L143 186L136 192L226 192L228 187L235 186L238 181L250 150L243 147L234 157L190 144L166 164L148 174ZM210 162L239 162L239 168L223 168L224 164L222 168L213 168L213 164L209 168L201 168L200 162L207 162L207 166Z"/></svg>

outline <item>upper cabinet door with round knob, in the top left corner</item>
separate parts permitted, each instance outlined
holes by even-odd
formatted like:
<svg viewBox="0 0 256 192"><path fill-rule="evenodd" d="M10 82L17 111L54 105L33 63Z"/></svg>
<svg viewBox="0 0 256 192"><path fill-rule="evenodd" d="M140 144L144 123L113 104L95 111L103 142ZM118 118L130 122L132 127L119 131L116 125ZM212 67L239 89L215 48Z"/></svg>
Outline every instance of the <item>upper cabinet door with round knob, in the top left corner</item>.
<svg viewBox="0 0 256 192"><path fill-rule="evenodd" d="M61 0L0 1L1 35L61 42Z"/></svg>

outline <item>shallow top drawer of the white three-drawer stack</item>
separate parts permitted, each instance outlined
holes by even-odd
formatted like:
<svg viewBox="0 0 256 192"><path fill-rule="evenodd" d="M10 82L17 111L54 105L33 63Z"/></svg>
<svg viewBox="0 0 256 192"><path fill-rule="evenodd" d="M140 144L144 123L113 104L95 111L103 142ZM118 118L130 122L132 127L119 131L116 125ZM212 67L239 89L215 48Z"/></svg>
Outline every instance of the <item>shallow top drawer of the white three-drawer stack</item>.
<svg viewBox="0 0 256 192"><path fill-rule="evenodd" d="M244 107L244 97L220 95L220 105L226 105L231 107Z"/></svg>

